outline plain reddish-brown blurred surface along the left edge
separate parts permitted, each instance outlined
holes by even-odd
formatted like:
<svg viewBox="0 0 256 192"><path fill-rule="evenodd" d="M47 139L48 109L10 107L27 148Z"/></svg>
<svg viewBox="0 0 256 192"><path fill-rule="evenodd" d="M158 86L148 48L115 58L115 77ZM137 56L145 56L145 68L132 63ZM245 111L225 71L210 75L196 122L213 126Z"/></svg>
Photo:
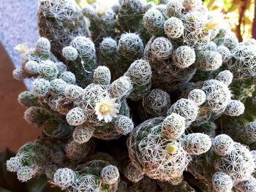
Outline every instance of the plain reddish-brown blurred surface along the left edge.
<svg viewBox="0 0 256 192"><path fill-rule="evenodd" d="M18 104L17 98L26 87L12 78L13 69L15 66L0 43L0 152L6 147L17 152L20 146L37 139L41 133L23 119L26 108Z"/></svg>

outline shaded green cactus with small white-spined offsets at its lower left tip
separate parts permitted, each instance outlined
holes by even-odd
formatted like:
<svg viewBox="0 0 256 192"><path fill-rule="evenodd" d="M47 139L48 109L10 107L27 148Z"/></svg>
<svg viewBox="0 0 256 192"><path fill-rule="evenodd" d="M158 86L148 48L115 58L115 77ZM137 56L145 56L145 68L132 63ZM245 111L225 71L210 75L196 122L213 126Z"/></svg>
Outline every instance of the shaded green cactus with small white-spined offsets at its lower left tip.
<svg viewBox="0 0 256 192"><path fill-rule="evenodd" d="M20 182L27 182L39 174L46 174L46 167L61 166L64 163L65 155L60 144L61 142L56 139L37 139L28 142L20 147L15 157L7 161L7 170L17 172Z"/></svg>

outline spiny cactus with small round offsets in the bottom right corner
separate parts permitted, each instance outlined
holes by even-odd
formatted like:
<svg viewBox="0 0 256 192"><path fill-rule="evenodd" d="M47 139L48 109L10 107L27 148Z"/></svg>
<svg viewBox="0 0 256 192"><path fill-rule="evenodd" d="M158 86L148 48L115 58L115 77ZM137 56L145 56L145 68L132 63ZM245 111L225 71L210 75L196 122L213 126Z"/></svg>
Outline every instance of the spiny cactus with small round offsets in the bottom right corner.
<svg viewBox="0 0 256 192"><path fill-rule="evenodd" d="M215 137L211 149L189 164L189 172L206 182L211 191L253 191L253 171L254 158L246 146L225 134Z"/></svg>

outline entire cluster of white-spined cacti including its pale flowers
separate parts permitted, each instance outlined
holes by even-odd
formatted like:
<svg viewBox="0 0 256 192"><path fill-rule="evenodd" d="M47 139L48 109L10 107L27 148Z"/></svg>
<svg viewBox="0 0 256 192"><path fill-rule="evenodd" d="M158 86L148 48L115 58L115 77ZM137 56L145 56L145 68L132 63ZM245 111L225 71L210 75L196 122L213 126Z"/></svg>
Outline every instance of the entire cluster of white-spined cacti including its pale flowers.
<svg viewBox="0 0 256 192"><path fill-rule="evenodd" d="M256 191L256 40L200 0L41 0L16 47L18 102L42 130L7 161L65 191Z"/></svg>

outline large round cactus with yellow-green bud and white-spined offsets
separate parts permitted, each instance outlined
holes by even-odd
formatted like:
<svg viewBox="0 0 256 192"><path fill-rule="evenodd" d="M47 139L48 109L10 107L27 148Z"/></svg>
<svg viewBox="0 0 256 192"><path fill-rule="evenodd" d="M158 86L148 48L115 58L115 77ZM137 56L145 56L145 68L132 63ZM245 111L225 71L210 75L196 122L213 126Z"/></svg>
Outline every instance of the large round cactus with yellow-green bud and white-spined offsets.
<svg viewBox="0 0 256 192"><path fill-rule="evenodd" d="M181 177L190 155L200 155L211 147L211 139L205 134L184 135L198 112L195 101L179 99L166 118L141 123L127 140L132 164L152 179L174 182Z"/></svg>

